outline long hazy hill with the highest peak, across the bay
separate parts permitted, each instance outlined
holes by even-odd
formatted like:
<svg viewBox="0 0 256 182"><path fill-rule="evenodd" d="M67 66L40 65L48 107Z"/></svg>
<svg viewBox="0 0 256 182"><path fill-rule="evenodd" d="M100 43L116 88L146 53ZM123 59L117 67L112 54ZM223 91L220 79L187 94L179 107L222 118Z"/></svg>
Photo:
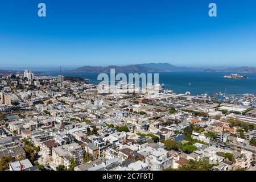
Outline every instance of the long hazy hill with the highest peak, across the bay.
<svg viewBox="0 0 256 182"><path fill-rule="evenodd" d="M73 69L73 72L110 72L110 69L115 69L115 72L163 72L163 71L200 71L196 68L176 67L169 63L149 63L149 64L135 64L126 66L111 65L108 67L80 67Z"/></svg>

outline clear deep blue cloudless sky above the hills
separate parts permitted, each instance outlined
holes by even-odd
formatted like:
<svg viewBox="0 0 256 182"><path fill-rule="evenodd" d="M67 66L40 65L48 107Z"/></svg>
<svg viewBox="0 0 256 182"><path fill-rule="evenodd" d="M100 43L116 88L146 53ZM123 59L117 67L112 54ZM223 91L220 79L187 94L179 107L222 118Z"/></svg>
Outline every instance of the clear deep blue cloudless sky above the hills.
<svg viewBox="0 0 256 182"><path fill-rule="evenodd" d="M38 3L47 17L38 17ZM210 2L217 18L208 16ZM0 68L256 67L255 0L1 0Z"/></svg>

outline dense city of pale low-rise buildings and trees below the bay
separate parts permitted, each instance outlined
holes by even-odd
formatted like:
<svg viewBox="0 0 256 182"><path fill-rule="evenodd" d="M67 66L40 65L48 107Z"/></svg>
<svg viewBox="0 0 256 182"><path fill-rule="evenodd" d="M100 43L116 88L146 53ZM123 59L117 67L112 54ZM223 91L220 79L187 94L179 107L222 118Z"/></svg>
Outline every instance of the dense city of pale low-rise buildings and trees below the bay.
<svg viewBox="0 0 256 182"><path fill-rule="evenodd" d="M205 160L208 171L256 171L254 94L100 93L29 73L0 78L0 170L187 171Z"/></svg>

